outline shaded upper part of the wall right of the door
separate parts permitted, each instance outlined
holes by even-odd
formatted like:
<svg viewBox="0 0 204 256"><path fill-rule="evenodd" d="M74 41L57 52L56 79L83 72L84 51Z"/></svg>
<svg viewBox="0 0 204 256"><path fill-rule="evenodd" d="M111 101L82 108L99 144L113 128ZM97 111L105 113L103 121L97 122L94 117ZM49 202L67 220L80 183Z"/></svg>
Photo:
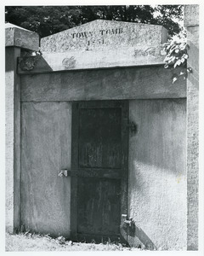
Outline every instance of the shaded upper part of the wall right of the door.
<svg viewBox="0 0 204 256"><path fill-rule="evenodd" d="M183 174L186 99L131 101L130 120L137 125L137 133L129 138L130 168L135 160Z"/></svg>

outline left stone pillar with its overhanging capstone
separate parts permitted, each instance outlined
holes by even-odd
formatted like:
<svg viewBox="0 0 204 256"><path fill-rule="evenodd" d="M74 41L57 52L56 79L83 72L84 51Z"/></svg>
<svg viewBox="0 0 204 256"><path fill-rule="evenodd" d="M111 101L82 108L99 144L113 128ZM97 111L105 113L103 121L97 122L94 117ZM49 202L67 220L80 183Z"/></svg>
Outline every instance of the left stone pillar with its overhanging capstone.
<svg viewBox="0 0 204 256"><path fill-rule="evenodd" d="M20 228L20 76L17 58L21 49L37 50L37 33L6 24L6 230Z"/></svg>

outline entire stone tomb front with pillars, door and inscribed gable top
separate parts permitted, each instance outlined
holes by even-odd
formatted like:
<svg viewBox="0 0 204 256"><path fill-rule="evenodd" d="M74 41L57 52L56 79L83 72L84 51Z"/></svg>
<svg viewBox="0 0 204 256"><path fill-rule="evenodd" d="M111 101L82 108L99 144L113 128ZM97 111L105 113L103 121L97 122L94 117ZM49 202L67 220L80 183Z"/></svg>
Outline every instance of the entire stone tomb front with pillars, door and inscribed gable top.
<svg viewBox="0 0 204 256"><path fill-rule="evenodd" d="M185 26L187 84L162 26L94 20L39 45L6 25L9 232L197 250L197 5Z"/></svg>

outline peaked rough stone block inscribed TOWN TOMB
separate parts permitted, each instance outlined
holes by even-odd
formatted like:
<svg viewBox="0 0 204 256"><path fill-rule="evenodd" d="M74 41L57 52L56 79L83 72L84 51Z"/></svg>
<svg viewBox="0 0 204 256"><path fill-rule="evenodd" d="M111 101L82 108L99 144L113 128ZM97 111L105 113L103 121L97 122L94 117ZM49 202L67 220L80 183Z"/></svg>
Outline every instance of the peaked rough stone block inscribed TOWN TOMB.
<svg viewBox="0 0 204 256"><path fill-rule="evenodd" d="M115 20L94 20L41 39L42 52L121 49L157 46L167 40L163 26Z"/></svg>

